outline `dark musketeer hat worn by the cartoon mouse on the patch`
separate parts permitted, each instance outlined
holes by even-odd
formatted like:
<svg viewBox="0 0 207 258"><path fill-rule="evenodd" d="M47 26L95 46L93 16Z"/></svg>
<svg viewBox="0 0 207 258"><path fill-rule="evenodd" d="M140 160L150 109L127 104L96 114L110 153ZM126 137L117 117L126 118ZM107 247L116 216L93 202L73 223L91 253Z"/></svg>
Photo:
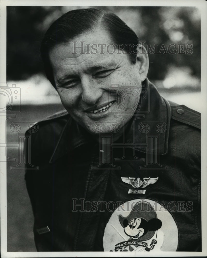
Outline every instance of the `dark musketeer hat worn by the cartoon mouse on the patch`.
<svg viewBox="0 0 207 258"><path fill-rule="evenodd" d="M127 220L129 222L135 218L141 218L146 221L149 221L151 219L157 219L157 214L156 214L154 208L148 202L139 201L138 203L136 203L133 206L132 211L130 212L130 214L127 217L123 217L122 215L119 215L119 222L122 225L122 227L124 228L124 220ZM161 225L162 225L162 222L161 222ZM154 231L149 230L145 235L140 237L139 240L148 240L148 239L152 238L155 234L155 231L156 230L154 230Z"/></svg>

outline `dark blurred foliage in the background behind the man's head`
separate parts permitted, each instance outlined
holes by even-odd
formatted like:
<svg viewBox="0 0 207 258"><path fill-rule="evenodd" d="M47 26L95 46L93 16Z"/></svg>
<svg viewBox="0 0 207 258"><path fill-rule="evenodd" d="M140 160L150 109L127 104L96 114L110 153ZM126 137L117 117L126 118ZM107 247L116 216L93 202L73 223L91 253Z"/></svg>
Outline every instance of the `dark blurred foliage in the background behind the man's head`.
<svg viewBox="0 0 207 258"><path fill-rule="evenodd" d="M7 80L27 79L43 72L41 39L50 24L67 11L82 6L7 6ZM94 7L117 14L141 41L158 44L193 44L191 54L150 54L148 77L163 80L169 67L190 67L200 77L200 13L196 7Z"/></svg>

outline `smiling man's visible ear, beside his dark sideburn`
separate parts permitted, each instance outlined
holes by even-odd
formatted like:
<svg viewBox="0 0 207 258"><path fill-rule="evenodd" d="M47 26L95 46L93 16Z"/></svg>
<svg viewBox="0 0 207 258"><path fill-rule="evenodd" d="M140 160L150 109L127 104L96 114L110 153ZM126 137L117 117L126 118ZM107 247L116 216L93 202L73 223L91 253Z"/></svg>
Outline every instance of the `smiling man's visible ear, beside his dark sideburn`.
<svg viewBox="0 0 207 258"><path fill-rule="evenodd" d="M147 77L147 73L149 69L149 57L148 57L147 50L141 44L138 44L138 47L137 47L136 62L138 65L141 81L143 82L143 80L145 80Z"/></svg>

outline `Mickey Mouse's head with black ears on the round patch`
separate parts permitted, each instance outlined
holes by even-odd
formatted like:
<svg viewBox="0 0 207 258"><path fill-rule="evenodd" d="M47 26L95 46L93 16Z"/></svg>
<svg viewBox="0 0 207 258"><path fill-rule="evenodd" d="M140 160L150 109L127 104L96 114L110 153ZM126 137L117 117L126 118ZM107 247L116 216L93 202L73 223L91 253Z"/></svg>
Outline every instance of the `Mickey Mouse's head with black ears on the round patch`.
<svg viewBox="0 0 207 258"><path fill-rule="evenodd" d="M134 218L128 222L127 219L123 222L124 232L127 236L133 239L138 239L145 235L148 231L155 231L161 228L162 222L159 219L151 219L149 221L143 218Z"/></svg>

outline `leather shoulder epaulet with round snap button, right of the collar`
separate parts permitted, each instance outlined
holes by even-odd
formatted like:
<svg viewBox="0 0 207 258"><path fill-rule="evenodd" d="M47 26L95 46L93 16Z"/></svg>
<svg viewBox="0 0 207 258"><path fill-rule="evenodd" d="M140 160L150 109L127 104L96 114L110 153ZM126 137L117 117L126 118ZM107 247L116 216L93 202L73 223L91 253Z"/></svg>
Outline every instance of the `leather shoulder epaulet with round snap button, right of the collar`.
<svg viewBox="0 0 207 258"><path fill-rule="evenodd" d="M187 125L201 129L201 113L185 105L177 105L169 101L171 107L171 118Z"/></svg>

